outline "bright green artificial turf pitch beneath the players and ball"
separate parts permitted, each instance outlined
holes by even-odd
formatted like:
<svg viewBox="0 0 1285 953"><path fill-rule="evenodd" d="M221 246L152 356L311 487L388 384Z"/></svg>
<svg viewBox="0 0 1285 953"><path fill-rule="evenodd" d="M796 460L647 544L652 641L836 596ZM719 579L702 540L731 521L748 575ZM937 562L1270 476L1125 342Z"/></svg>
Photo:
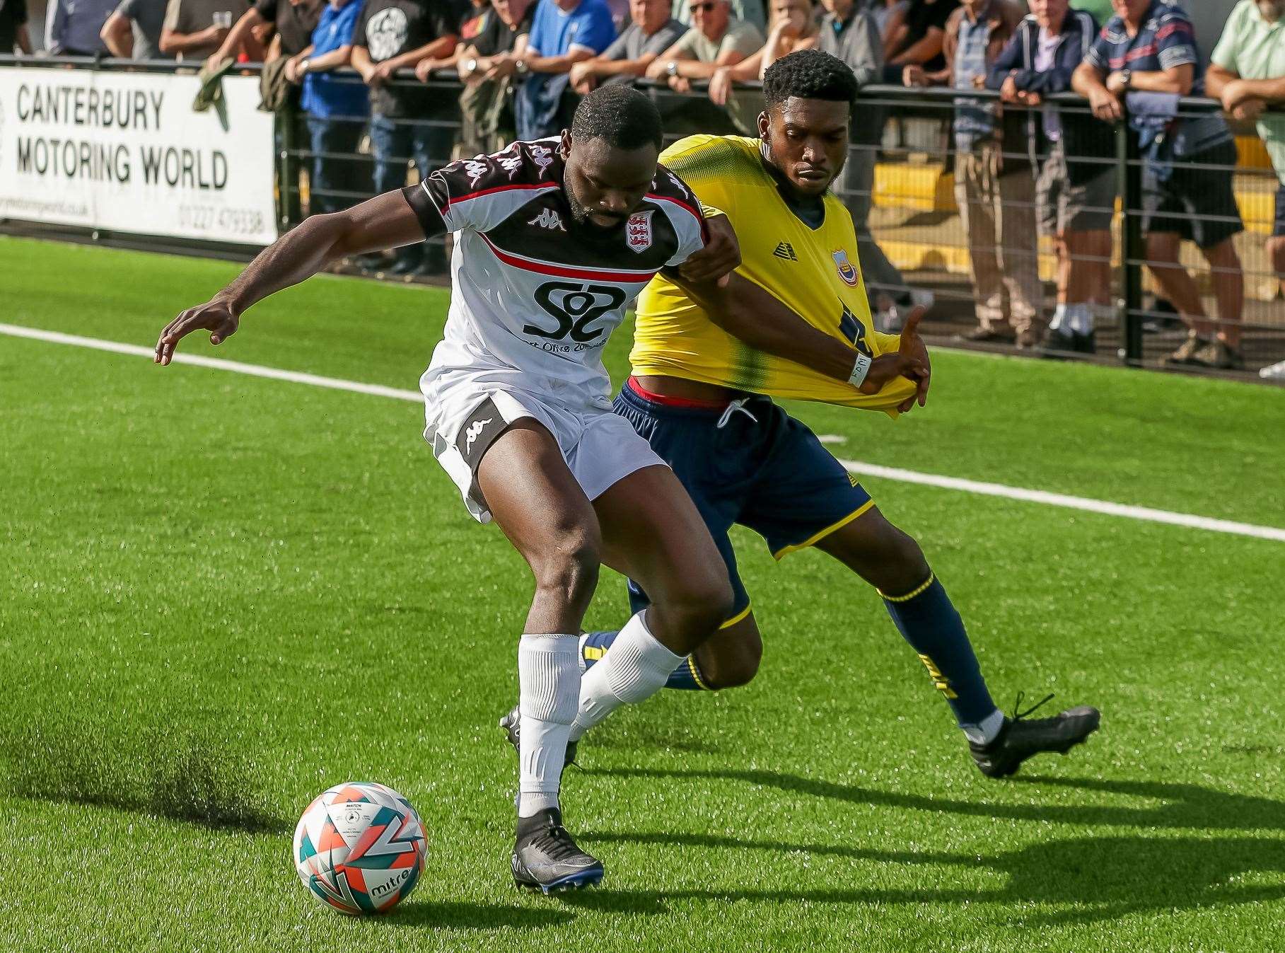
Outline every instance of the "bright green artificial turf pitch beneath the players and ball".
<svg viewBox="0 0 1285 953"><path fill-rule="evenodd" d="M235 266L0 239L0 322L150 346ZM414 390L443 292L319 278L182 350ZM626 368L628 328L609 351ZM938 352L892 422L792 408L847 459L1285 525L1279 390ZM386 397L0 336L0 949L1285 948L1285 543L888 480L1006 707L1103 731L971 765L882 604L738 532L759 676L618 712L567 776L607 864L508 872L531 593ZM623 621L604 574L587 625ZM329 785L424 817L425 876L351 921L289 835Z"/></svg>

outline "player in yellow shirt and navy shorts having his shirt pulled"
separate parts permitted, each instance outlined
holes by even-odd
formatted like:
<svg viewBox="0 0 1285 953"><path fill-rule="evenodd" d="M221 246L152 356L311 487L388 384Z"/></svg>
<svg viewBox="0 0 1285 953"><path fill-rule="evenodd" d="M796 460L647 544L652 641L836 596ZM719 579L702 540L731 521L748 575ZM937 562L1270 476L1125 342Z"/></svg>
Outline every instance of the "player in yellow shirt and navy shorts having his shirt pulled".
<svg viewBox="0 0 1285 953"><path fill-rule="evenodd" d="M852 219L829 190L847 156L857 93L851 69L819 50L797 51L767 71L763 93L758 139L690 136L660 161L704 204L729 216L740 241L740 274L866 360L856 358L849 379L838 379L834 368L772 356L711 322L699 301L663 273L640 297L634 374L616 412L687 489L736 597L732 616L671 675L669 685L727 688L758 670L762 643L727 536L740 523L761 534L776 558L816 547L878 589L984 774L1013 774L1041 751L1064 754L1096 731L1097 710L1006 718L991 700L964 622L919 544L884 518L807 427L772 403L817 400L896 415L916 397L923 403L928 378L917 386L898 378L876 394L857 387L870 361L897 352L902 341L871 324ZM917 315L905 333L914 336L916 327ZM917 338L910 343L923 349ZM632 583L630 598L635 610L648 602ZM613 639L614 633L581 637L583 664L592 666Z"/></svg>

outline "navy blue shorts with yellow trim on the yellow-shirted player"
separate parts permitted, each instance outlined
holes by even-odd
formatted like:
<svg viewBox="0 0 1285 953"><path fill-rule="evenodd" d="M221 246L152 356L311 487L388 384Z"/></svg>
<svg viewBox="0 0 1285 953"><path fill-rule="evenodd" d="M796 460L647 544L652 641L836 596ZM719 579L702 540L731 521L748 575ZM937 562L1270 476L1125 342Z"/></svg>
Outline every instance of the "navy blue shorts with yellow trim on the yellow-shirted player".
<svg viewBox="0 0 1285 953"><path fill-rule="evenodd" d="M722 408L648 400L626 383L614 409L673 468L709 527L736 597L726 625L749 612L749 594L727 538L732 523L761 535L780 559L874 505L816 435L768 397L749 397L743 409L725 415ZM648 602L630 583L634 611Z"/></svg>

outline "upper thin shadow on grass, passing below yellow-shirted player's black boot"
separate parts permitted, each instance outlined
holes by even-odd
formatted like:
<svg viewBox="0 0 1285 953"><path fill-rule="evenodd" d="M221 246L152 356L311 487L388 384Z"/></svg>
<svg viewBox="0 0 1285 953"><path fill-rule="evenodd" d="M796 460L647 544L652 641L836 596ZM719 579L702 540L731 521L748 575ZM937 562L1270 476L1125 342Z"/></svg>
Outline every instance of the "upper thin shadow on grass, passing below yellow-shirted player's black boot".
<svg viewBox="0 0 1285 953"><path fill-rule="evenodd" d="M1199 785L1163 781L1095 781L1090 778L1024 777L1005 785L1047 785L1072 787L1108 795L1148 797L1162 801L1155 806L1115 806L1109 804L993 804L964 801L955 797L880 791L856 785L840 785L820 778L804 778L768 770L671 770L621 768L587 770L587 774L609 774L618 778L711 778L740 781L747 785L775 787L788 794L825 797L852 804L883 808L910 808L965 817L1005 821L1045 821L1063 824L1097 827L1159 827L1171 830L1221 831L1285 831L1285 801L1253 795L1213 791Z"/></svg>

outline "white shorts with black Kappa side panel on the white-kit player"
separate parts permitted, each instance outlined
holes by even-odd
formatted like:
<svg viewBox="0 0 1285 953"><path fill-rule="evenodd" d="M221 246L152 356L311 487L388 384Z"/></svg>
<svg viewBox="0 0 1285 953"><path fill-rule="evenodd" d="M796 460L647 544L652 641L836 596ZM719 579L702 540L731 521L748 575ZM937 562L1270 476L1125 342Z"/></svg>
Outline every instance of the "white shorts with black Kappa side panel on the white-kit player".
<svg viewBox="0 0 1285 953"><path fill-rule="evenodd" d="M668 466L637 435L632 424L605 401L571 401L497 382L488 372L452 370L421 382L424 440L464 498L478 522L491 522L474 473L487 448L523 417L538 421L554 435L563 459L585 495L594 500L617 481L644 467ZM568 388L571 390L571 388Z"/></svg>

